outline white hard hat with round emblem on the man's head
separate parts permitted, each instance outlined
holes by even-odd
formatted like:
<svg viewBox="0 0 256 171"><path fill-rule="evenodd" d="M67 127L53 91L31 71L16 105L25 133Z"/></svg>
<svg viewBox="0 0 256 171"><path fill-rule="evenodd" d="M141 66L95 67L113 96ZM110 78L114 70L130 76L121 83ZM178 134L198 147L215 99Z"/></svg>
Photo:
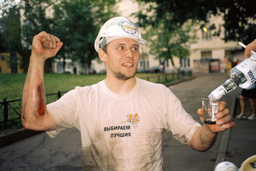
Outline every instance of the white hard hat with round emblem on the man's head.
<svg viewBox="0 0 256 171"><path fill-rule="evenodd" d="M116 38L132 38L140 44L147 43L147 40L141 38L138 28L131 20L125 17L114 17L101 27L94 43L95 50L98 52L100 48Z"/></svg>

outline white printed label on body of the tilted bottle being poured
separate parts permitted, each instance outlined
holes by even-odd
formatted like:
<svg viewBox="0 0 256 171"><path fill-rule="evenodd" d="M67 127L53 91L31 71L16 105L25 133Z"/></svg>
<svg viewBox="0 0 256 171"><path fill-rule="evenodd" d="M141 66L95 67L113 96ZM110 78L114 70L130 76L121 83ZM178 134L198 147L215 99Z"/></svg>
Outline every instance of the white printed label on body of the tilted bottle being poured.
<svg viewBox="0 0 256 171"><path fill-rule="evenodd" d="M244 73L250 84L256 81L256 59L254 56L244 59L236 68Z"/></svg>

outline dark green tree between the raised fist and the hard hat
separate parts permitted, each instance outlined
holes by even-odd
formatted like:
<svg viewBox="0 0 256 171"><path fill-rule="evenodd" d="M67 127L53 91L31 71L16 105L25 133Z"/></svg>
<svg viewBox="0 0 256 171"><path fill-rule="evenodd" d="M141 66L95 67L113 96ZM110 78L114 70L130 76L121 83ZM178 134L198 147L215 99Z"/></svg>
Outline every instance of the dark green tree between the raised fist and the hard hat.
<svg viewBox="0 0 256 171"><path fill-rule="evenodd" d="M98 28L92 17L92 4L86 0L61 1L54 6L52 33L64 43L60 53L63 61L69 57L90 67L92 59L97 56L93 50L93 38L97 36L95 30Z"/></svg>

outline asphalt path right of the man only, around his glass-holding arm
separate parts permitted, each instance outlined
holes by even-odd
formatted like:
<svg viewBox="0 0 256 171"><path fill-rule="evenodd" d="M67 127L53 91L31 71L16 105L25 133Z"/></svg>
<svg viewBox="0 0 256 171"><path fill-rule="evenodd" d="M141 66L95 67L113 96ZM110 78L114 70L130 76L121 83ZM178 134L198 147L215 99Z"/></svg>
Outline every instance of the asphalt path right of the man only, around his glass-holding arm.
<svg viewBox="0 0 256 171"><path fill-rule="evenodd" d="M182 101L185 110L192 115L193 119L200 122L196 111L201 108L201 98L207 97L212 90L227 80L226 73L211 73L196 75L196 78L187 82L170 86L173 93ZM228 108L233 108L232 101L239 96L239 89L236 89L221 98L221 101L228 103ZM234 103L233 103L234 104ZM166 170L179 171L203 171L213 170L220 149L221 137L219 133L216 143L206 152L198 152L182 145L174 140L170 133L164 133L164 165Z"/></svg>

